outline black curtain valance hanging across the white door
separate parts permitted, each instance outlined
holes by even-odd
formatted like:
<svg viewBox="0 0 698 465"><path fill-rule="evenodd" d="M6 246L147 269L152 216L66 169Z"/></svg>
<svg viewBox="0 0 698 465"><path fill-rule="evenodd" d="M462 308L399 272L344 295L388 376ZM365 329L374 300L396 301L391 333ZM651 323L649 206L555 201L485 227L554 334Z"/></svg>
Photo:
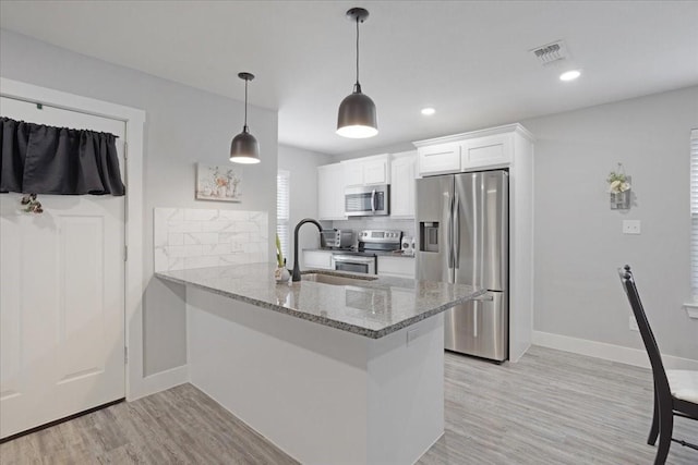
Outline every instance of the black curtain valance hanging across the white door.
<svg viewBox="0 0 698 465"><path fill-rule="evenodd" d="M116 139L0 118L0 193L123 195Z"/></svg>

